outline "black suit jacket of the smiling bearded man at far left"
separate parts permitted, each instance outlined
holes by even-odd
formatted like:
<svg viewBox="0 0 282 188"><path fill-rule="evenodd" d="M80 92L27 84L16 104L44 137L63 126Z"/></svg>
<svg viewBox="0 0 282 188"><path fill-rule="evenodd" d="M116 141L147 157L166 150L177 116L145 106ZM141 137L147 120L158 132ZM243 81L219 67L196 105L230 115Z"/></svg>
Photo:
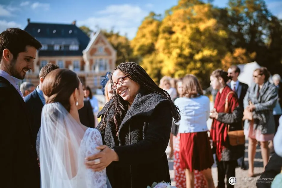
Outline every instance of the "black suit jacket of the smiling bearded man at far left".
<svg viewBox="0 0 282 188"><path fill-rule="evenodd" d="M0 76L0 187L40 188L40 170L32 144L26 103Z"/></svg>

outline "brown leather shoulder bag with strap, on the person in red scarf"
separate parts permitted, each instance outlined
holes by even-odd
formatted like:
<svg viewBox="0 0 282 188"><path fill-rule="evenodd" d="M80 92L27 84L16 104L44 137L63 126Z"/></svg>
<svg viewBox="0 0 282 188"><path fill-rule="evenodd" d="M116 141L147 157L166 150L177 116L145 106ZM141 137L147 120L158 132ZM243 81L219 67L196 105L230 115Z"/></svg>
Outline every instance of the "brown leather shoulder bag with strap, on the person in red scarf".
<svg viewBox="0 0 282 188"><path fill-rule="evenodd" d="M225 99L225 107L224 107L224 112L228 113L228 97L229 94L235 94L234 91L230 91ZM245 144L245 135L244 135L244 130L234 130L234 131L229 131L229 126L228 125L228 129L227 129L227 134L229 137L229 144L232 146L236 146L236 145L244 145ZM242 122L242 129L243 129L243 122Z"/></svg>

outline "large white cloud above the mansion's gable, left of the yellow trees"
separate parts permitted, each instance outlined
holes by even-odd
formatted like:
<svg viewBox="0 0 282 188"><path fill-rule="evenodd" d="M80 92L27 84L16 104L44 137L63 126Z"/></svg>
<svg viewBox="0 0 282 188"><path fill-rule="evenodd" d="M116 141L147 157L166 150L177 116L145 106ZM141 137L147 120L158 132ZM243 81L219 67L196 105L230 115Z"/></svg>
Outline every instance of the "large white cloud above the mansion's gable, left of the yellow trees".
<svg viewBox="0 0 282 188"><path fill-rule="evenodd" d="M148 15L148 12L138 6L123 4L110 5L104 10L98 11L95 16L77 21L77 25L86 25L92 30L97 30L96 25L102 29L114 27L115 31L127 36L129 39L135 37L141 21Z"/></svg>

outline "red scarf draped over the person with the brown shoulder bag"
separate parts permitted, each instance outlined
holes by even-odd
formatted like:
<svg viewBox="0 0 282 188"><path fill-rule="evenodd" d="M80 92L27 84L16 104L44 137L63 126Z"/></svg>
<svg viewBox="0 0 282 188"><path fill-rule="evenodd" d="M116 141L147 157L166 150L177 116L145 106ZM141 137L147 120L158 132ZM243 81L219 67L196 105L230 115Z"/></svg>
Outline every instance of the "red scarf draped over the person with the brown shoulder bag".
<svg viewBox="0 0 282 188"><path fill-rule="evenodd" d="M218 113L224 112L225 99L227 94L232 91L228 86L225 86L221 92L217 92L214 108ZM230 94L228 97L228 113L232 113L233 110L238 106L237 96ZM221 160L221 153L224 148L228 147L227 143L227 124L224 124L216 119L213 119L211 124L211 138L213 141L213 147L216 148L217 159Z"/></svg>

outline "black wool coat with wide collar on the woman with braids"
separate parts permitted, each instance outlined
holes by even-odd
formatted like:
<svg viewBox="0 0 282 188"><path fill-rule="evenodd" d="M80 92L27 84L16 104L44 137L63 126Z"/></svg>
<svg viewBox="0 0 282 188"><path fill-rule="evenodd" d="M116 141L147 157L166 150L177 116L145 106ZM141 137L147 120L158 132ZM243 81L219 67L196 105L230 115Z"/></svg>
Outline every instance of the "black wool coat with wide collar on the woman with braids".
<svg viewBox="0 0 282 188"><path fill-rule="evenodd" d="M97 129L103 142L114 148L118 162L107 167L107 175L112 187L146 187L159 181L170 182L169 167L165 150L171 131L170 101L160 94L141 90L128 109L118 131L115 130L114 107L107 115L105 111L110 100L98 113L106 118L107 126Z"/></svg>

